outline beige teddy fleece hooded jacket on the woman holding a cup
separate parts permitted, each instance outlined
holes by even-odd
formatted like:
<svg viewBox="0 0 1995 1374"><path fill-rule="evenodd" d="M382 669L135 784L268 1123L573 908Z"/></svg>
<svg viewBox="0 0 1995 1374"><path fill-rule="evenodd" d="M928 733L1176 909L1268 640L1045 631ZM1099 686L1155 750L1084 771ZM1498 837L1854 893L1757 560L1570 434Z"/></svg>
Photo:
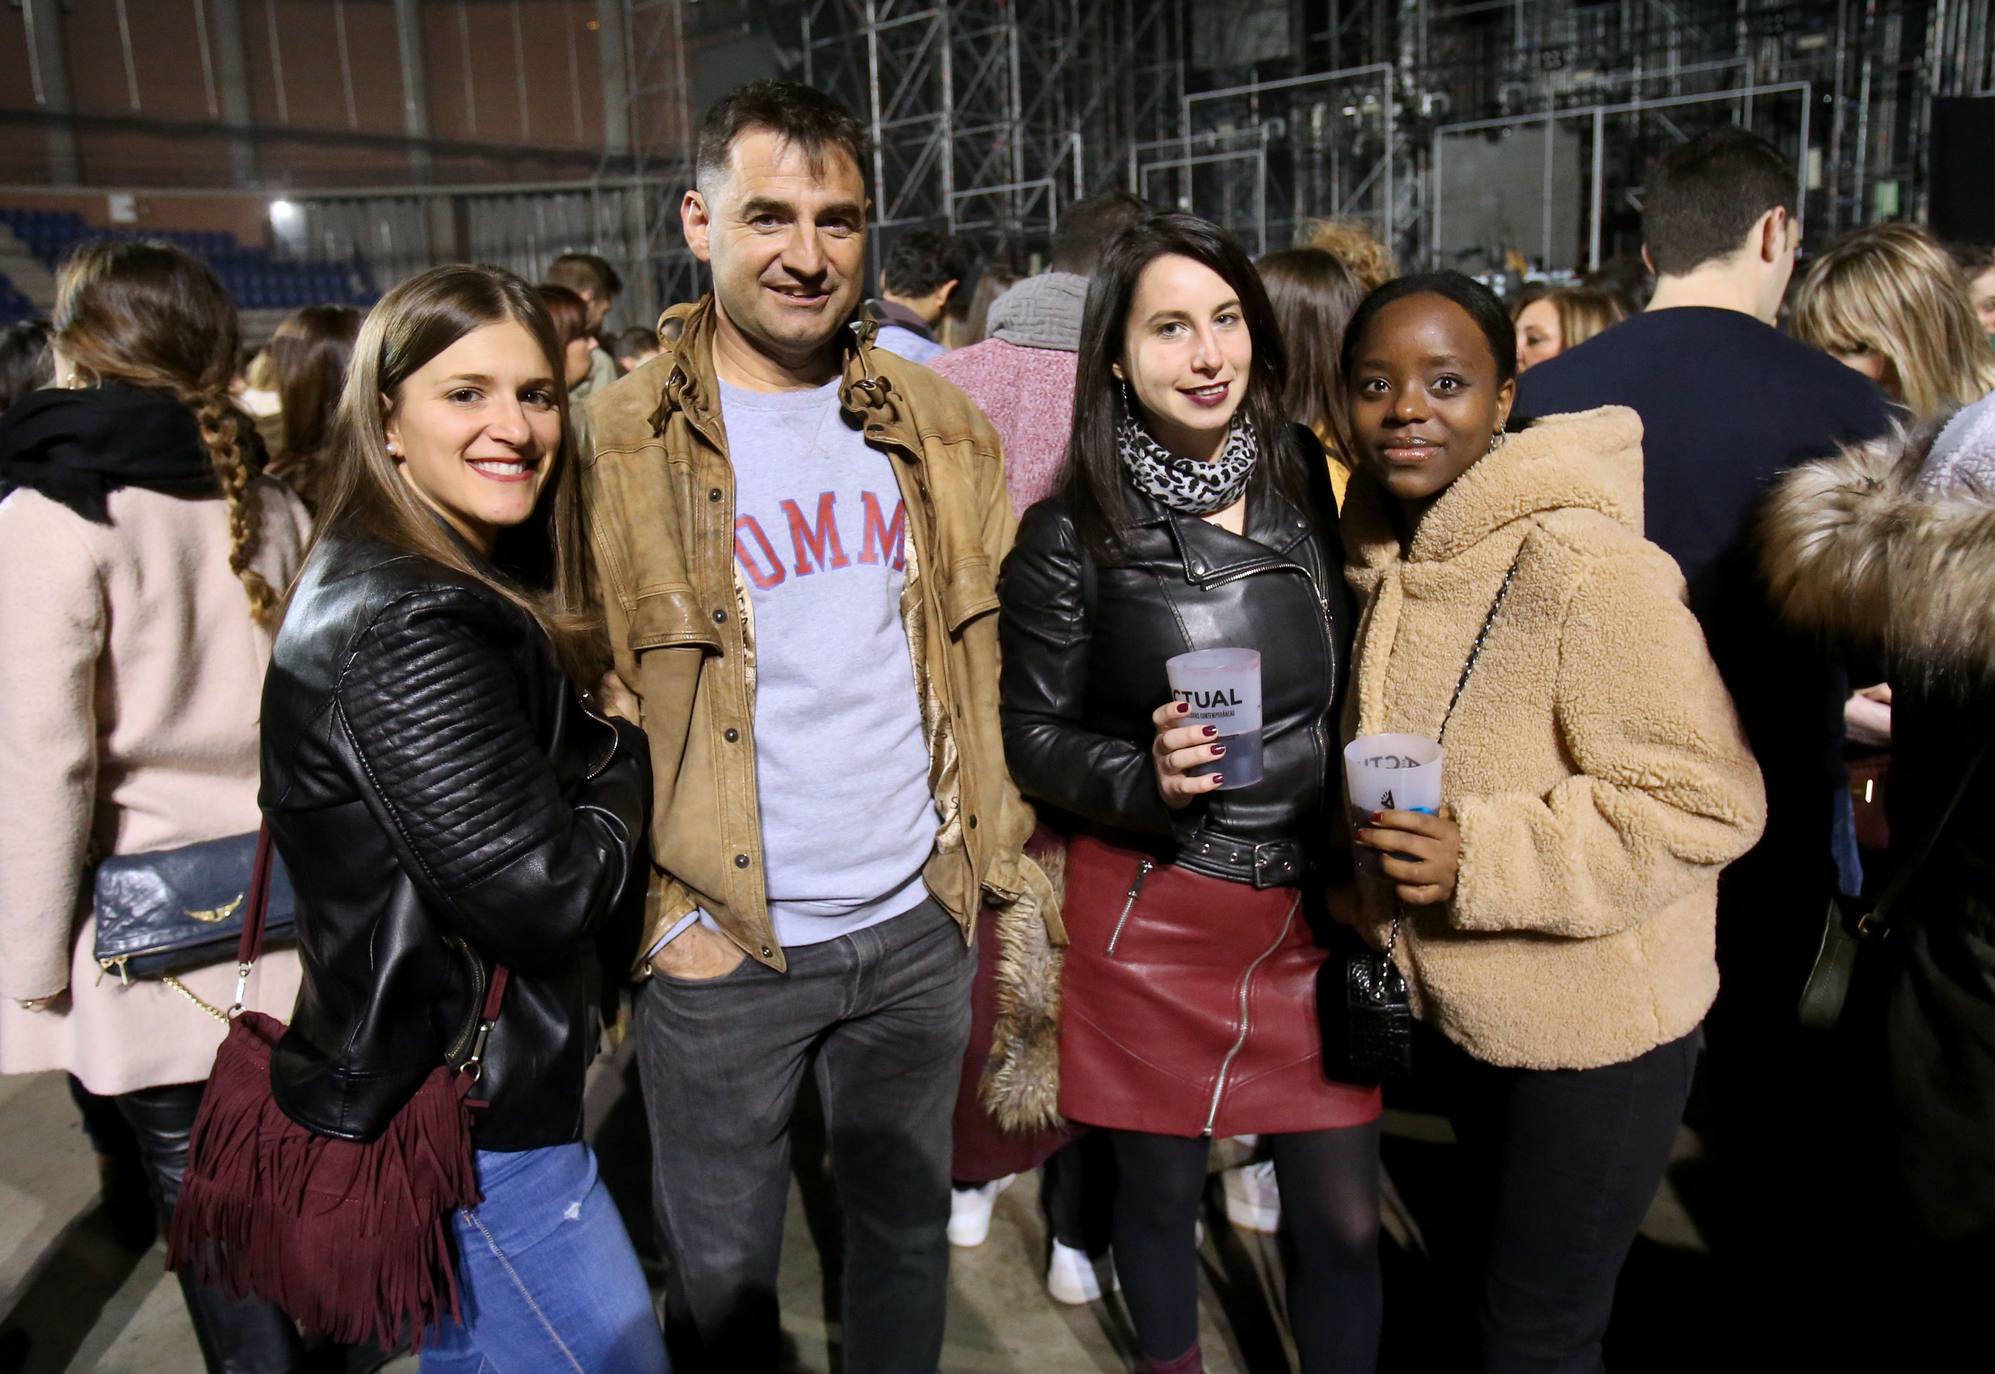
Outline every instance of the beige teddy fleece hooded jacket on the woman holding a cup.
<svg viewBox="0 0 1995 1374"><path fill-rule="evenodd" d="M1552 415L1448 487L1402 546L1369 475L1343 513L1363 604L1345 736L1434 738L1504 572L1510 596L1446 732L1454 899L1408 909L1416 1015L1476 1059L1622 1063L1718 993L1718 873L1766 824L1684 578L1642 538L1642 423ZM1385 941L1391 899L1367 889Z"/></svg>

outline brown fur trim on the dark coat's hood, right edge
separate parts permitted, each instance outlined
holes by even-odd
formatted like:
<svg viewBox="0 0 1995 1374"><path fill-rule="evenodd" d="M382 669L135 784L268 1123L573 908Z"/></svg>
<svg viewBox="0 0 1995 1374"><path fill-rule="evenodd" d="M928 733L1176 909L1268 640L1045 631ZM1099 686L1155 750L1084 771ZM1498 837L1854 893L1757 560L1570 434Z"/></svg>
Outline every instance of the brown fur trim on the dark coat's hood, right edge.
<svg viewBox="0 0 1995 1374"><path fill-rule="evenodd" d="M1762 526L1782 612L1939 680L1995 680L1995 497L1921 487L1933 431L1788 473Z"/></svg>

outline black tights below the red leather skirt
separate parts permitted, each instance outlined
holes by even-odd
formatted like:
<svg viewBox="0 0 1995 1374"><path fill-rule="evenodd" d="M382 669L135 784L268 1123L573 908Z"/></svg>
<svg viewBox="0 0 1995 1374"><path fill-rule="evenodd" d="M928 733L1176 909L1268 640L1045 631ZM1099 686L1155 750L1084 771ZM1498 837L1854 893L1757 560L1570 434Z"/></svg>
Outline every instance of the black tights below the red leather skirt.
<svg viewBox="0 0 1995 1374"><path fill-rule="evenodd" d="M1211 1141L1111 1131L1115 1276L1149 1360L1199 1338L1195 1224ZM1281 1185L1289 1330L1303 1374L1379 1368L1379 1123L1263 1137Z"/></svg>

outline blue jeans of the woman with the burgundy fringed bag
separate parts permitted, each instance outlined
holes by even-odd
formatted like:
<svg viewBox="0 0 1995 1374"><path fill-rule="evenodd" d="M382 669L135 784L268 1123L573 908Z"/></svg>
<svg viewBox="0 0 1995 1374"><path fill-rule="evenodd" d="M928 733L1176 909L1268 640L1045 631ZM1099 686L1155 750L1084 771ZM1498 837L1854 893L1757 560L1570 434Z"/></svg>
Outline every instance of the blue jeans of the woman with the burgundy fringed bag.
<svg viewBox="0 0 1995 1374"><path fill-rule="evenodd" d="M451 1218L463 1324L423 1374L666 1374L644 1270L587 1145L479 1151L485 1201Z"/></svg>

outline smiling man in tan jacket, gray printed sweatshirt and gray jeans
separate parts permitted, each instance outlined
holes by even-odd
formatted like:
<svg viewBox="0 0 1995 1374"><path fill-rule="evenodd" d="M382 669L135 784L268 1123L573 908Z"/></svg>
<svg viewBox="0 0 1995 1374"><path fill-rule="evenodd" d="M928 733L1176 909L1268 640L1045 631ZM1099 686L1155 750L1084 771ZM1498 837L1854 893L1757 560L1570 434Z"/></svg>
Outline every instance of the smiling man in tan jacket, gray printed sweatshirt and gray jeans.
<svg viewBox="0 0 1995 1374"><path fill-rule="evenodd" d="M591 554L656 776L636 1035L680 1370L778 1360L788 1121L818 1077L846 1368L932 1374L982 903L1051 923L998 722L998 437L876 351L860 130L756 82L682 223L714 293L591 405Z"/></svg>

